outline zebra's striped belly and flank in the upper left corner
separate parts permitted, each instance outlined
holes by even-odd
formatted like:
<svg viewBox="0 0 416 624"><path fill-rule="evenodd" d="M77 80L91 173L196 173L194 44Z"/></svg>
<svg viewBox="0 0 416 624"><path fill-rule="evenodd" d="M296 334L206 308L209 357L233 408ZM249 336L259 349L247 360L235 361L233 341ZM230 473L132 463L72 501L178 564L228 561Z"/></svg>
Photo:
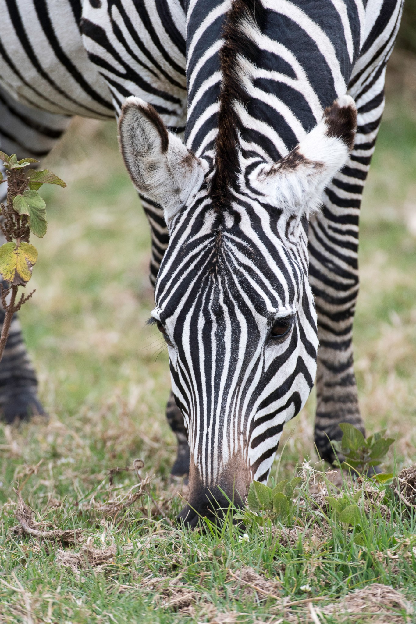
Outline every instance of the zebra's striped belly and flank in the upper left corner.
<svg viewBox="0 0 416 624"><path fill-rule="evenodd" d="M89 60L81 6L67 0L0 0L0 84L26 106L114 118L107 82Z"/></svg>

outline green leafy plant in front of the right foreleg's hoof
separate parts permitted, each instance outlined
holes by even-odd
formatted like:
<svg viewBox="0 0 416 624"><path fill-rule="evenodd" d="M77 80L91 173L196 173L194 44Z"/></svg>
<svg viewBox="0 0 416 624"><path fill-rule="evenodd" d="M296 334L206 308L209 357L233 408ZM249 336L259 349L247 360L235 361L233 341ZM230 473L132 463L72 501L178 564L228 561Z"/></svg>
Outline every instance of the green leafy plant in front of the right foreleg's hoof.
<svg viewBox="0 0 416 624"><path fill-rule="evenodd" d="M384 437L385 429L365 439L362 432L349 422L342 422L339 427L344 435L341 441L332 440L331 444L336 452L344 456L344 461L337 461L336 464L345 469L352 468L360 474L367 474L369 468L379 466L394 442L392 437ZM377 475L377 478L385 481L392 475Z"/></svg>

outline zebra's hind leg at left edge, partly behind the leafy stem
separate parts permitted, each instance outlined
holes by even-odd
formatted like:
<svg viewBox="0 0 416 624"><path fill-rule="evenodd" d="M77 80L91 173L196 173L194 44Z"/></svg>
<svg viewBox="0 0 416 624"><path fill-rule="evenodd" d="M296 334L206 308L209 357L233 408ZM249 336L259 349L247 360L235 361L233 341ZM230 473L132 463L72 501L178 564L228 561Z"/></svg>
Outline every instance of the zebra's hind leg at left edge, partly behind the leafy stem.
<svg viewBox="0 0 416 624"><path fill-rule="evenodd" d="M40 159L51 151L70 122L69 117L30 109L13 100L0 88L0 149L17 158ZM4 170L3 170L3 173ZM0 185L0 202L7 194ZM5 243L0 233L0 245ZM4 311L0 308L0 331ZM6 422L43 414L37 399L37 379L22 338L17 315L12 319L9 338L0 361L0 414Z"/></svg>

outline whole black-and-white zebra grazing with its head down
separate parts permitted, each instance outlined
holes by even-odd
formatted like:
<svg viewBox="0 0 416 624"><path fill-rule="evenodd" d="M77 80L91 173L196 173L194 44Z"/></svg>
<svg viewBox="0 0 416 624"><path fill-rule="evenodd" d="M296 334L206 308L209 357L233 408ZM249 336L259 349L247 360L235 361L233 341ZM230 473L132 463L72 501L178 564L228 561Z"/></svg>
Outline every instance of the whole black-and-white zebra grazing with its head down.
<svg viewBox="0 0 416 624"><path fill-rule="evenodd" d="M194 526L214 499L239 503L266 481L315 378L315 441L331 460L340 422L364 431L352 359L359 207L402 0L0 7L2 150L43 156L70 115L119 117L152 232L172 472L190 477L180 518ZM0 380L6 417L41 409L17 326Z"/></svg>

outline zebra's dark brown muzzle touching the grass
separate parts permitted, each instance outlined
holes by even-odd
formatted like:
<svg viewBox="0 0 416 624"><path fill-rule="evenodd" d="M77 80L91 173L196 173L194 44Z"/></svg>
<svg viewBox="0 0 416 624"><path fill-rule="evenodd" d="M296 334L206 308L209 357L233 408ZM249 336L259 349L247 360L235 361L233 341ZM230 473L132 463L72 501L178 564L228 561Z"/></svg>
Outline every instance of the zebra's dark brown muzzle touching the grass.
<svg viewBox="0 0 416 624"><path fill-rule="evenodd" d="M216 522L224 517L230 501L233 507L244 507L248 490L247 470L236 473L235 470L223 470L217 482L205 485L195 467L190 470L190 495L188 503L178 515L178 522L190 529L195 529L201 519Z"/></svg>

